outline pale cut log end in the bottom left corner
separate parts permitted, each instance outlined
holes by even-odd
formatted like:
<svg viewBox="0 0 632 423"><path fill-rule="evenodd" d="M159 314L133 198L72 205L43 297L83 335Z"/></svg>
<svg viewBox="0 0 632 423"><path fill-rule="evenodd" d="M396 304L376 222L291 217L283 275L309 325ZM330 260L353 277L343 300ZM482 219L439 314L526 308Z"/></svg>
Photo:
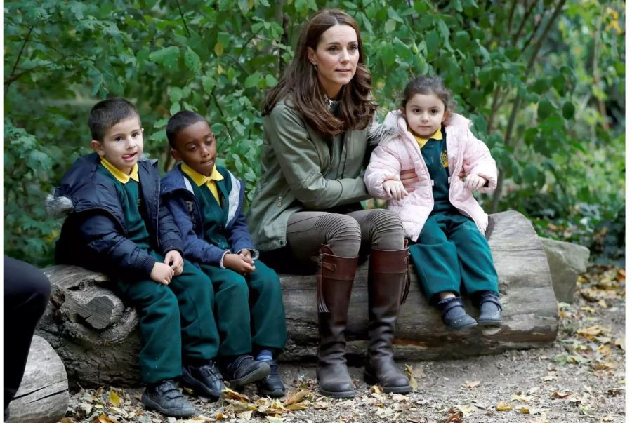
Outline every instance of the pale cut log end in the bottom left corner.
<svg viewBox="0 0 632 423"><path fill-rule="evenodd" d="M64 363L46 340L35 335L20 389L9 404L7 422L58 422L66 414L69 401Z"/></svg>

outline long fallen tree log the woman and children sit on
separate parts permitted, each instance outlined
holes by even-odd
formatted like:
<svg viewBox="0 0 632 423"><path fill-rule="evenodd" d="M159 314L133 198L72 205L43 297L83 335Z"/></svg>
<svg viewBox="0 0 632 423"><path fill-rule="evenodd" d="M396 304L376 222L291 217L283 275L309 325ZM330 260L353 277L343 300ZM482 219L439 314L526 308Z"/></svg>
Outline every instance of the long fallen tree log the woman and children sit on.
<svg viewBox="0 0 632 423"><path fill-rule="evenodd" d="M412 272L400 311L395 356L406 361L463 358L506 349L544 347L555 340L558 310L546 255L530 222L508 211L490 218L489 244L499 274L503 324L451 332L423 298ZM81 386L140 383L138 315L107 286L107 277L80 267L44 269L51 280L50 311L39 332L53 344L72 382ZM313 360L318 342L314 276L281 275L289 341L282 359ZM466 301L473 316L477 312ZM359 361L367 337L367 263L357 271L348 318L350 361Z"/></svg>

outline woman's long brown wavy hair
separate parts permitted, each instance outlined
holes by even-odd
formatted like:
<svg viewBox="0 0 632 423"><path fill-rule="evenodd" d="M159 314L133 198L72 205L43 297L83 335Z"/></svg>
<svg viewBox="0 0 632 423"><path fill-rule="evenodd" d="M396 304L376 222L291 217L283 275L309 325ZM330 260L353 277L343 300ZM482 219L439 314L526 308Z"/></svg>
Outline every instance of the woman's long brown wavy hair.
<svg viewBox="0 0 632 423"><path fill-rule="evenodd" d="M322 33L334 25L349 25L354 29L360 55L353 79L341 89L338 116L329 112L317 72L308 60L308 47L316 50ZM263 116L269 114L288 93L292 95L294 108L320 133L335 135L348 129L364 129L371 123L377 109L371 99L371 73L364 66L362 39L357 22L350 15L338 9L324 9L312 16L298 37L292 62L277 86L265 96Z"/></svg>

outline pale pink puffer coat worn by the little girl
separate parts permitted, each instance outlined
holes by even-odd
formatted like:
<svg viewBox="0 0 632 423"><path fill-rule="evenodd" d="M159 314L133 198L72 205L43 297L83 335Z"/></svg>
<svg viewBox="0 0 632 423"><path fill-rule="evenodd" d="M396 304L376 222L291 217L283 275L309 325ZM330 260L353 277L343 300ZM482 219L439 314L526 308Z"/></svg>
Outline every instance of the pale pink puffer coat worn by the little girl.
<svg viewBox="0 0 632 423"><path fill-rule="evenodd" d="M384 191L386 180L400 180L402 170L414 169L420 182L414 192L400 201L389 200L387 208L394 210L402 218L404 231L413 241L419 237L423 224L433 210L433 187L430 173L421 156L421 150L413 135L408 132L406 120L400 110L390 112L384 120L384 126L396 129L396 136L381 140L371 154L371 161L364 173L364 184L371 196L387 199ZM472 121L460 114L450 114L445 123L448 171L449 200L459 212L470 217L485 234L487 214L461 177L475 174L488 182L480 192L493 192L496 189L498 171L496 161L489 153L487 145L478 140L470 131Z"/></svg>

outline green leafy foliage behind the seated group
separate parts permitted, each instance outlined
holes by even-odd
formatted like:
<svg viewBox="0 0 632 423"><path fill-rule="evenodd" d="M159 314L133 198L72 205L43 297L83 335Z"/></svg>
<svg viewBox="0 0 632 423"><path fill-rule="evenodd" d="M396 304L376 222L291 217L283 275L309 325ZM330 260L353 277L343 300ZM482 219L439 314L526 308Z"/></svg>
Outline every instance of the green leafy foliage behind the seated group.
<svg viewBox="0 0 632 423"><path fill-rule="evenodd" d="M206 116L220 163L244 179L250 200L265 90L324 7L360 25L379 119L412 76L445 78L502 171L501 189L482 199L487 210L518 209L541 233L597 252L591 233L606 225L621 250L620 2L27 0L4 3L6 253L51 263L60 222L44 196L89 152L88 111L109 96L136 103L145 152L163 170L173 165L169 116Z"/></svg>

